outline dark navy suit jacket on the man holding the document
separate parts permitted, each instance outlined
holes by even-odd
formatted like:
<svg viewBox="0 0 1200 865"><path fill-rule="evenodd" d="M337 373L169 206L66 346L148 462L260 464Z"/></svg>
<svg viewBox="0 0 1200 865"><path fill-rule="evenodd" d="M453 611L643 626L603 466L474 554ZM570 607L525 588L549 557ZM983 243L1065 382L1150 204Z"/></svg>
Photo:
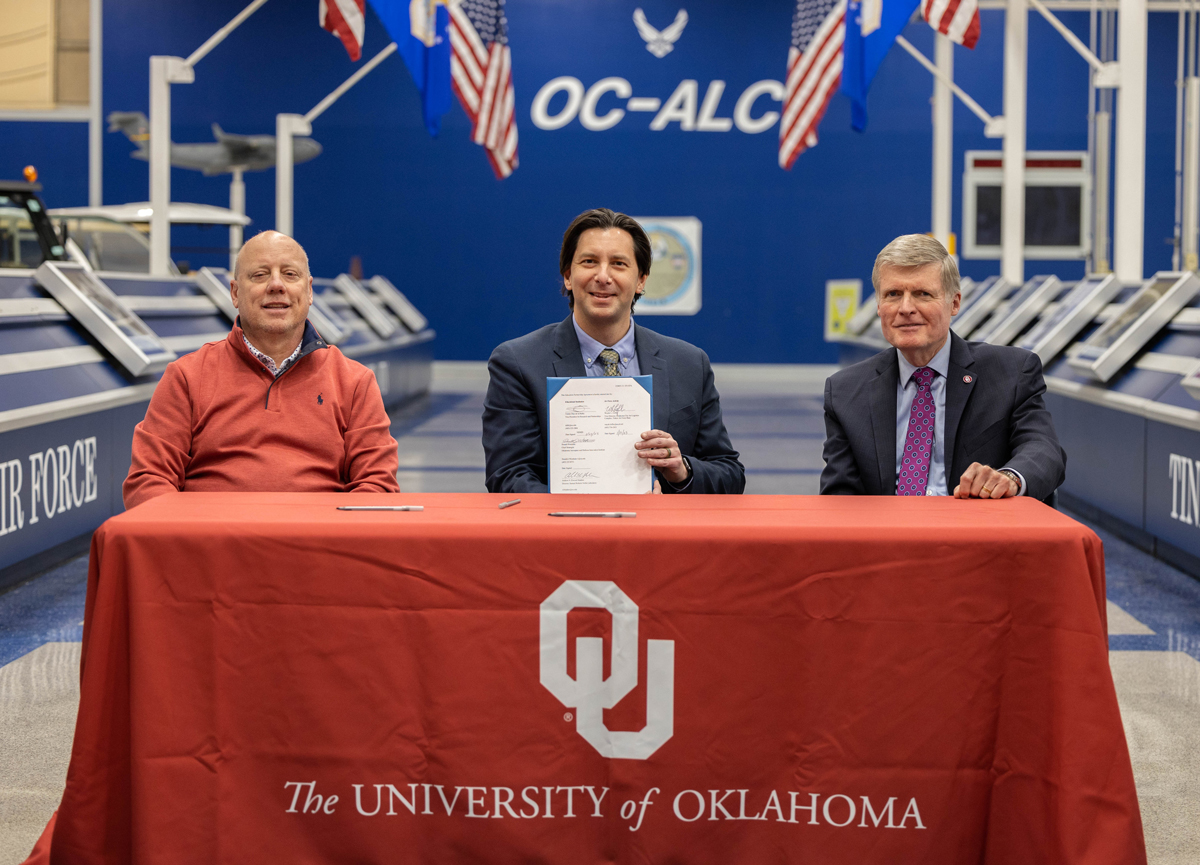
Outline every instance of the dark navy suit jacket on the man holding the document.
<svg viewBox="0 0 1200 865"><path fill-rule="evenodd" d="M740 493L745 469L721 420L708 355L683 340L635 325L637 366L654 377L654 425L691 462L689 493ZM546 378L587 376L571 317L510 340L487 361L484 403L487 489L544 493L547 487ZM668 483L662 492L672 492Z"/></svg>

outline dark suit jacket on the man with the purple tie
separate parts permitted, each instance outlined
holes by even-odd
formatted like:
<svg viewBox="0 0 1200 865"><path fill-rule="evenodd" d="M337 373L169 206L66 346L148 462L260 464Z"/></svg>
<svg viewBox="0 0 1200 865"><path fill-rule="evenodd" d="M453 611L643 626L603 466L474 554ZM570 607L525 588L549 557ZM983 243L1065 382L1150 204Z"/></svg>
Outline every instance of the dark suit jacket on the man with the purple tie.
<svg viewBox="0 0 1200 865"><path fill-rule="evenodd" d="M889 348L826 382L822 494L895 495L899 378L896 349ZM1037 499L1058 488L1067 455L1042 401L1045 389L1036 354L965 342L950 332L946 377L950 493L973 462L1016 469L1025 477L1025 494Z"/></svg>

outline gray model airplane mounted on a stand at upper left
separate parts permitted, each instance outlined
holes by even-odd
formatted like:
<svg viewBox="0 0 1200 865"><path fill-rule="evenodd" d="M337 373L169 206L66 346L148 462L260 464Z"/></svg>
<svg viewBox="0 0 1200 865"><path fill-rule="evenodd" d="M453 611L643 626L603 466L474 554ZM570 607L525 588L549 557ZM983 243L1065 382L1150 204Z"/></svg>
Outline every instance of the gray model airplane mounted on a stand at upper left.
<svg viewBox="0 0 1200 865"><path fill-rule="evenodd" d="M138 145L130 156L150 158L150 122L142 112L113 112L108 115L108 131L124 132ZM275 164L275 136L230 136L212 124L212 144L170 144L170 164L191 168L206 175L233 170L260 172ZM307 162L320 154L320 144L312 138L294 138L293 161Z"/></svg>

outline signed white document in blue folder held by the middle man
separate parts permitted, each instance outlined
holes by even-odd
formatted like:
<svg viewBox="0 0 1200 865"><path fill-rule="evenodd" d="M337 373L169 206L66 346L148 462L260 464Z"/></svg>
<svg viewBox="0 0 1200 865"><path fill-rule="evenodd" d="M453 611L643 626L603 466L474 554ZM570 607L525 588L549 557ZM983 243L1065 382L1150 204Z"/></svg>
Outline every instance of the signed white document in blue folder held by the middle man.
<svg viewBox="0 0 1200 865"><path fill-rule="evenodd" d="M634 443L654 428L653 377L547 378L550 492L646 493L654 469Z"/></svg>

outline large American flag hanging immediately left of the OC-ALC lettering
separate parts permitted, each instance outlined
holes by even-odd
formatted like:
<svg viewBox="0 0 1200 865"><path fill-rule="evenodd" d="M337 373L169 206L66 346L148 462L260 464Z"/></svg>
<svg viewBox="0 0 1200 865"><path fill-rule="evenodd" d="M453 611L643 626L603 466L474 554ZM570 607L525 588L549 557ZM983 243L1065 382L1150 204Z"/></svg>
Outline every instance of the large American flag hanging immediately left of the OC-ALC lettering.
<svg viewBox="0 0 1200 865"><path fill-rule="evenodd" d="M487 149L496 176L517 167L512 53L504 0L462 0L450 11L450 79L472 124L472 140Z"/></svg>

